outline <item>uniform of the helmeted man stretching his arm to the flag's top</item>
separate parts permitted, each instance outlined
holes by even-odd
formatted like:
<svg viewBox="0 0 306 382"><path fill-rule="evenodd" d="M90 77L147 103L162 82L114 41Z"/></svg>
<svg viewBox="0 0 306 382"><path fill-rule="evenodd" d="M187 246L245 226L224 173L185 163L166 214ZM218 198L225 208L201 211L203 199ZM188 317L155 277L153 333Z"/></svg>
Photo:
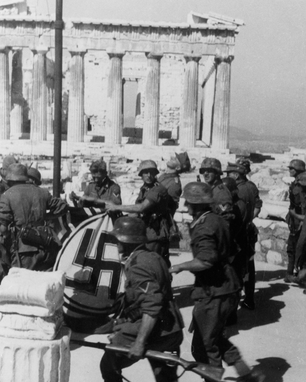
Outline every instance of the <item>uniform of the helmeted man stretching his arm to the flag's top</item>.
<svg viewBox="0 0 306 382"><path fill-rule="evenodd" d="M169 209L167 189L155 183L153 187L145 184L140 188L135 204L142 203L147 199L151 203L149 210L142 214L148 238L147 248L160 254L169 265Z"/></svg>

